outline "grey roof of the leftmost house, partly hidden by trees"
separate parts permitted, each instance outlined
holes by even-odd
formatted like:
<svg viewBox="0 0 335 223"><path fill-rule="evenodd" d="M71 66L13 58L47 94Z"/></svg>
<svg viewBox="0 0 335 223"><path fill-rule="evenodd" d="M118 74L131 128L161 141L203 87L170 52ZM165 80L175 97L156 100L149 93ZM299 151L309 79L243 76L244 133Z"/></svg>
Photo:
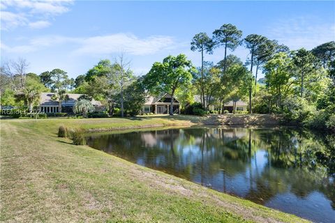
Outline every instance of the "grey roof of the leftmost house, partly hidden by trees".
<svg viewBox="0 0 335 223"><path fill-rule="evenodd" d="M84 94L81 93L66 93L68 95L68 100L65 102L62 102L62 104L66 104L68 106L74 105L75 102L78 100L78 98ZM52 96L54 93L41 93L40 94L40 106L56 106L59 105L59 103L56 100L52 100ZM92 99L91 100L92 105L95 106L102 106L101 102Z"/></svg>

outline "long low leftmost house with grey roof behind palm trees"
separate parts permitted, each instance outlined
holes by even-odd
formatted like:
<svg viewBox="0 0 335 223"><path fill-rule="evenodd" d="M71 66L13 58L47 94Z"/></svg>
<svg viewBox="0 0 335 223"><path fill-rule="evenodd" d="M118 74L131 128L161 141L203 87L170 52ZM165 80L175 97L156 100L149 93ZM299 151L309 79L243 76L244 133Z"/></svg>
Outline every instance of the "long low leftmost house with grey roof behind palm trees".
<svg viewBox="0 0 335 223"><path fill-rule="evenodd" d="M54 93L41 93L40 94L40 105L38 105L38 110L40 112L45 113L57 113L59 111L59 102L57 100L52 100L52 96ZM67 93L68 100L61 102L62 112L72 112L73 106L75 102L77 102L78 98L83 94L80 93ZM92 105L96 108L96 111L105 110L105 106L101 104L101 102L92 99Z"/></svg>

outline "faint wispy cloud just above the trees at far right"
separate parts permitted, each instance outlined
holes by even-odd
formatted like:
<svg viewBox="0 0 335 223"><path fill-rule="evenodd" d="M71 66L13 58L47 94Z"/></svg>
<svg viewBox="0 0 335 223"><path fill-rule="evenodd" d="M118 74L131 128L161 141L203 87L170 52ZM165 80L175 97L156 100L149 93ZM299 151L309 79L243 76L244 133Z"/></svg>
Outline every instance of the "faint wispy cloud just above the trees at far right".
<svg viewBox="0 0 335 223"><path fill-rule="evenodd" d="M335 39L335 24L315 17L295 17L281 20L268 28L269 38L288 45L290 49L313 47Z"/></svg>

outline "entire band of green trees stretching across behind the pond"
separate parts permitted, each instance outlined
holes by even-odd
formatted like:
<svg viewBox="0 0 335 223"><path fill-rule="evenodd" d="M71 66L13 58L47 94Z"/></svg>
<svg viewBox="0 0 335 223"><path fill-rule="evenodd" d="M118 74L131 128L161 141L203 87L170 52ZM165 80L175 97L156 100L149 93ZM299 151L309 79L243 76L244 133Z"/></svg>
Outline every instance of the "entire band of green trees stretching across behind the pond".
<svg viewBox="0 0 335 223"><path fill-rule="evenodd" d="M194 95L200 95L201 105L195 107L204 113L211 105L223 112L225 102L241 99L248 102L249 113L280 114L285 122L334 130L335 42L310 51L290 50L265 36L242 36L232 24L223 24L211 36L198 33L191 40L191 50L199 52L201 66L195 68L184 54L167 56L143 77L133 74L124 56L102 60L75 79L60 69L27 74L24 60L5 63L1 105L32 109L42 91L55 92L54 100L61 105L66 93L84 93L103 102L110 116L115 112L125 116L137 114L148 94L170 93L184 108L195 102ZM239 46L249 51L246 61L232 54ZM222 60L206 61L206 54L218 48L223 49ZM258 79L260 72L265 77Z"/></svg>

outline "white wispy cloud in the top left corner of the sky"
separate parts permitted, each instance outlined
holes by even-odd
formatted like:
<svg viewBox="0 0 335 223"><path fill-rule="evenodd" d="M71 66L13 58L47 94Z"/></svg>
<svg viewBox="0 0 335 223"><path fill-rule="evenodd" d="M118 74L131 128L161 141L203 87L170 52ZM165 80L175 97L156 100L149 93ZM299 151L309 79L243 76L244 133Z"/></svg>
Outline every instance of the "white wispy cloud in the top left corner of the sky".
<svg viewBox="0 0 335 223"><path fill-rule="evenodd" d="M2 0L1 29L12 30L19 26L42 29L50 26L50 20L66 13L73 0Z"/></svg>

